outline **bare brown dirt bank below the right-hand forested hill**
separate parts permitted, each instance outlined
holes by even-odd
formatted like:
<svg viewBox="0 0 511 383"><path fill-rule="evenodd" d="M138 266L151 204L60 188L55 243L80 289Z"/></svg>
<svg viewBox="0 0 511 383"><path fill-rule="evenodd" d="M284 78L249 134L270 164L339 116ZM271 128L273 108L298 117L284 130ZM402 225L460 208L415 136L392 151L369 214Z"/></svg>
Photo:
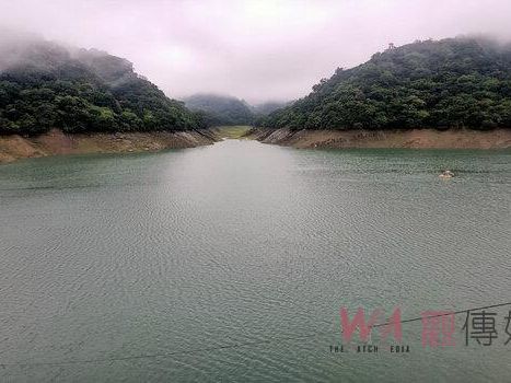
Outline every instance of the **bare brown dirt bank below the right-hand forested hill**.
<svg viewBox="0 0 511 383"><path fill-rule="evenodd" d="M265 143L293 148L511 148L511 129L477 131L465 129L410 130L289 130L253 129L249 137Z"/></svg>

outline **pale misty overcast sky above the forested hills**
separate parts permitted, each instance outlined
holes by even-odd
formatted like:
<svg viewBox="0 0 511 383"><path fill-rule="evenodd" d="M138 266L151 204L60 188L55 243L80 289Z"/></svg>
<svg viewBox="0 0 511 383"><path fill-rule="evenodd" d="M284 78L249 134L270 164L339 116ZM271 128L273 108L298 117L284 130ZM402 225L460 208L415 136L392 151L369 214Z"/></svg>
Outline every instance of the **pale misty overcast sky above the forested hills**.
<svg viewBox="0 0 511 383"><path fill-rule="evenodd" d="M510 15L510 0L0 0L0 26L125 57L172 97L252 103L303 96L390 42L511 38Z"/></svg>

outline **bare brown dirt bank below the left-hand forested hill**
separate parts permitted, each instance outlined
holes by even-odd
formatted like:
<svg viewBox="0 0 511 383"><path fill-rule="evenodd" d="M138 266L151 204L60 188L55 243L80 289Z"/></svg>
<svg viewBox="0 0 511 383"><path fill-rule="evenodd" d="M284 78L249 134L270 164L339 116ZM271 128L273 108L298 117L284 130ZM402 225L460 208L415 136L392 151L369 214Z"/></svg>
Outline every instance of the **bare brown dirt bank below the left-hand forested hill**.
<svg viewBox="0 0 511 383"><path fill-rule="evenodd" d="M216 130L65 135L54 129L37 137L0 136L0 163L57 154L121 153L191 148L218 140Z"/></svg>

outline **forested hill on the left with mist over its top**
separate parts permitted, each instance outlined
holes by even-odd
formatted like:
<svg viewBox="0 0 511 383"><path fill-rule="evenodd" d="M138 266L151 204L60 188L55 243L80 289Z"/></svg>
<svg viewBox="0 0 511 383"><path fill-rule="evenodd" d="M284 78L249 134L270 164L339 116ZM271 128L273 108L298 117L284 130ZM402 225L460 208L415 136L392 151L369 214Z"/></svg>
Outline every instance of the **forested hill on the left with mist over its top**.
<svg viewBox="0 0 511 383"><path fill-rule="evenodd" d="M0 134L183 130L200 116L170 100L131 62L38 38L2 38Z"/></svg>

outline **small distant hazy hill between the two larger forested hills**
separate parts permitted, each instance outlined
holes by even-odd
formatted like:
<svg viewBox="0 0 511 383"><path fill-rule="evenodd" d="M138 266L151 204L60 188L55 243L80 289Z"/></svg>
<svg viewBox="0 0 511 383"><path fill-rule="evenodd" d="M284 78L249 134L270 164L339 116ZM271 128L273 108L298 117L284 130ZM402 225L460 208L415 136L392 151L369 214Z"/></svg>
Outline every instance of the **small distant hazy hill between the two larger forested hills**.
<svg viewBox="0 0 511 383"><path fill-rule="evenodd" d="M194 94L186 97L188 108L199 112L208 126L251 125L254 114L243 100L218 94Z"/></svg>

